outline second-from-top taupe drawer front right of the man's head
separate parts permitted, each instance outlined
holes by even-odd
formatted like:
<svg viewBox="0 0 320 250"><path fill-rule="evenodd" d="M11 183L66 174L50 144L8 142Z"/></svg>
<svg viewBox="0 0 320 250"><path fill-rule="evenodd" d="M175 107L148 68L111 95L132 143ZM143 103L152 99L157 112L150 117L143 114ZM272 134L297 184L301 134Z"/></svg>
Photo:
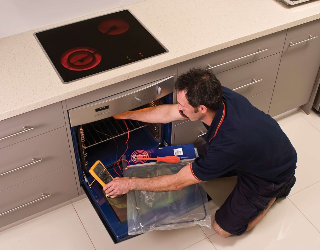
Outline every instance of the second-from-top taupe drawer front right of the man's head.
<svg viewBox="0 0 320 250"><path fill-rule="evenodd" d="M216 75L221 85L249 98L275 86L281 53ZM251 84L252 83L252 84Z"/></svg>

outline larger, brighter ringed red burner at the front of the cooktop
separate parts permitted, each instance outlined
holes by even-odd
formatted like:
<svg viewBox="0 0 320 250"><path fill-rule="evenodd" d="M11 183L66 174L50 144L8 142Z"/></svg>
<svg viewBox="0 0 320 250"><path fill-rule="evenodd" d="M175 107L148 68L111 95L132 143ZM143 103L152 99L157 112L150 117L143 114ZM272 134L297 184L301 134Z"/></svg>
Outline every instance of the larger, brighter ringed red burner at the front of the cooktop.
<svg viewBox="0 0 320 250"><path fill-rule="evenodd" d="M101 61L101 54L96 49L78 47L66 51L60 60L65 68L81 71L97 66Z"/></svg>

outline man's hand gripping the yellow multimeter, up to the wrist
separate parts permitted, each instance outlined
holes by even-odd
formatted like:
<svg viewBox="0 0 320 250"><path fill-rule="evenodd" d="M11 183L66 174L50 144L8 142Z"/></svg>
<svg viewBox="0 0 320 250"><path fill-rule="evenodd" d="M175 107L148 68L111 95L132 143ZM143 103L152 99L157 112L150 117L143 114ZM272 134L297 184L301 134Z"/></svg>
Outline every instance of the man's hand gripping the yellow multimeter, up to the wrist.
<svg viewBox="0 0 320 250"><path fill-rule="evenodd" d="M103 191L106 193L106 196L110 196L111 198L116 197L115 195L128 193L131 191L130 178L116 177L113 181L110 181L103 187Z"/></svg>

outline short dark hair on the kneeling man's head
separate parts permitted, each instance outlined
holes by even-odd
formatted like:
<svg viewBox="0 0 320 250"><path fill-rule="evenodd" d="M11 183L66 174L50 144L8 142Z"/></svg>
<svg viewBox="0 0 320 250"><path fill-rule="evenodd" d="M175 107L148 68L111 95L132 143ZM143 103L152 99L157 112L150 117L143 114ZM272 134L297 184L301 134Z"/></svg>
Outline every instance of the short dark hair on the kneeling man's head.
<svg viewBox="0 0 320 250"><path fill-rule="evenodd" d="M192 68L178 77L174 87L186 91L186 98L194 108L204 105L215 111L222 102L221 83L211 70Z"/></svg>

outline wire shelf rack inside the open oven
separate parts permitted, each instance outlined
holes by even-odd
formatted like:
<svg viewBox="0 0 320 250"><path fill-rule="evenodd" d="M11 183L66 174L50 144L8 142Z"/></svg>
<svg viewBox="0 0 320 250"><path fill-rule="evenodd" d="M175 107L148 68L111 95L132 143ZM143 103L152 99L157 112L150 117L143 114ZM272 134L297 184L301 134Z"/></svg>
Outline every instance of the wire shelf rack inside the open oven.
<svg viewBox="0 0 320 250"><path fill-rule="evenodd" d="M145 123L136 120L125 120L129 133L147 127L151 135L157 140L160 137L160 124ZM82 125L80 128L82 148L90 148L108 140L125 135L128 130L122 120L109 117L98 122Z"/></svg>

